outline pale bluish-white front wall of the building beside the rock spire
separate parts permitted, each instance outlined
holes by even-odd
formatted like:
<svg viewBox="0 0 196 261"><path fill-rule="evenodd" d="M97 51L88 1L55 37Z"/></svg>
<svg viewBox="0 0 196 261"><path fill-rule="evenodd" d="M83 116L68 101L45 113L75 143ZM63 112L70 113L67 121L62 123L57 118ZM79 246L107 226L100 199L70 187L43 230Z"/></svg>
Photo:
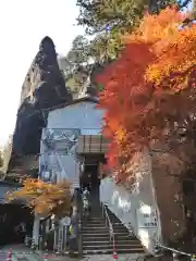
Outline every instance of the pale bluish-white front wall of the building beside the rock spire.
<svg viewBox="0 0 196 261"><path fill-rule="evenodd" d="M81 129L82 135L100 134L103 111L96 109L95 102L83 101L49 112L47 128L51 129ZM44 135L42 135L44 137ZM60 141L61 144L63 141ZM62 144L63 145L63 144ZM62 156L58 149L48 156L46 146L40 145L40 164L50 163L50 170L58 173L58 182L68 178L73 187L79 186L79 164L72 154ZM59 165L57 167L54 165ZM57 163L57 164L56 164ZM62 167L61 167L62 166ZM63 169L62 171L58 169Z"/></svg>

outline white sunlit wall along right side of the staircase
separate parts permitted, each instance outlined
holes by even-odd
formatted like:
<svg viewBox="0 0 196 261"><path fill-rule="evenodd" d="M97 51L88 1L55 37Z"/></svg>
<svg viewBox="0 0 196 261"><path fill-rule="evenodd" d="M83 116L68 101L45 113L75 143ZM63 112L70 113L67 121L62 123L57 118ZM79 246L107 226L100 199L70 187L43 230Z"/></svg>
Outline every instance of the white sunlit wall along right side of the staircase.
<svg viewBox="0 0 196 261"><path fill-rule="evenodd" d="M143 245L152 252L155 241L161 239L159 211L156 203L152 181L150 175L150 158L139 162L136 167L138 178L135 188L127 191L123 186L115 185L113 179L107 177L101 181L100 200L121 220L124 225L134 231ZM144 226L145 213L157 212L157 226Z"/></svg>

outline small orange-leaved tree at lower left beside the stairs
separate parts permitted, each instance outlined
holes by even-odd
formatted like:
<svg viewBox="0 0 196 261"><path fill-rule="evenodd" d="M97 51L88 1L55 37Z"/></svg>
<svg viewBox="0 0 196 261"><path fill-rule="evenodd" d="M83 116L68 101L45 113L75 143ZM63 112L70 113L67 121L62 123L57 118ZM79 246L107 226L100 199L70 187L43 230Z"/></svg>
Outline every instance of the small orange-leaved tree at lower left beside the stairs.
<svg viewBox="0 0 196 261"><path fill-rule="evenodd" d="M23 187L7 195L9 201L23 200L36 214L63 216L70 213L70 184L63 181L58 184L45 183L41 179L26 178Z"/></svg>

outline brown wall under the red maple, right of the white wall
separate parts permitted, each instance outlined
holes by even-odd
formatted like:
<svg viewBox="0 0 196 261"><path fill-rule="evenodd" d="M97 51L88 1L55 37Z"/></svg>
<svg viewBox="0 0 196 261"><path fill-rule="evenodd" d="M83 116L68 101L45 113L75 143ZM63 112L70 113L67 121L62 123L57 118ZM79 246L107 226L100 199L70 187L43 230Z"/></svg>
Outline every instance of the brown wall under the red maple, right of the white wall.
<svg viewBox="0 0 196 261"><path fill-rule="evenodd" d="M158 167L152 162L152 181L157 204L160 211L163 240L172 240L184 227L184 211L177 202L182 185L176 175L169 173L167 167Z"/></svg>

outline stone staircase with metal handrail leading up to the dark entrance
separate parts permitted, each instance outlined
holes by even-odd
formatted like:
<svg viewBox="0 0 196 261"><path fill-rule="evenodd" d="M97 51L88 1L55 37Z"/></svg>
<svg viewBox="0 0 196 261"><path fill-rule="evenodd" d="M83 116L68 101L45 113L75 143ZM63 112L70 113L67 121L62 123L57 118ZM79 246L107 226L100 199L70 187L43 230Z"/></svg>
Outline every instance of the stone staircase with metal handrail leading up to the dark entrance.
<svg viewBox="0 0 196 261"><path fill-rule="evenodd" d="M139 240L130 235L126 227L108 211L109 217L113 223L115 248L118 254L144 253ZM110 241L109 227L102 217L101 208L93 209L89 217L82 220L83 254L112 254L113 244Z"/></svg>

